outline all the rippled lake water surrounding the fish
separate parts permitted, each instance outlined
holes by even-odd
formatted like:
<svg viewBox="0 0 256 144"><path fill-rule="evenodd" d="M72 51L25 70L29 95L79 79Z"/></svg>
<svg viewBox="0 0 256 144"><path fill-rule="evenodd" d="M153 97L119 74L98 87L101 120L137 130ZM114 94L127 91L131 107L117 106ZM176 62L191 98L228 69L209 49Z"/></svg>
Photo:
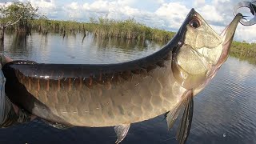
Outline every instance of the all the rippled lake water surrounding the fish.
<svg viewBox="0 0 256 144"><path fill-rule="evenodd" d="M20 38L22 39L22 38ZM58 34L33 34L26 42L14 43L6 35L5 54L14 59L46 63L126 62L152 54L162 44L99 40L82 35L62 38ZM206 89L194 98L194 118L187 143L256 143L256 66L238 58L228 58ZM122 143L177 143L178 122L169 132L163 116L131 125ZM0 143L110 143L113 127L74 127L58 130L39 119L0 129Z"/></svg>

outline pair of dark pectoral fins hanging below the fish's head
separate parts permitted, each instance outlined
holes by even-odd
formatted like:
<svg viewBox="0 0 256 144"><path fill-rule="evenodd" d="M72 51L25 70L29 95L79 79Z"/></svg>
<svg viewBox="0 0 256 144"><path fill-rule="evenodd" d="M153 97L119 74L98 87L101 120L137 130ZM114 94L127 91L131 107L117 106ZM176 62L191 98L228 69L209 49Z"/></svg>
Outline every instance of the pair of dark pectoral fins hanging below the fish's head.
<svg viewBox="0 0 256 144"><path fill-rule="evenodd" d="M180 110L184 108L184 113L182 115L182 122L180 122L180 125L178 126L176 138L178 140L178 143L182 144L186 142L186 139L188 138L190 134L190 127L192 123L193 118L193 110L194 110L194 101L193 101L193 92L192 90L188 90L186 94L184 94L184 99L175 106L174 110L171 110L170 112L166 113L166 121L168 130L172 126L174 126L174 122L178 118L178 114Z"/></svg>

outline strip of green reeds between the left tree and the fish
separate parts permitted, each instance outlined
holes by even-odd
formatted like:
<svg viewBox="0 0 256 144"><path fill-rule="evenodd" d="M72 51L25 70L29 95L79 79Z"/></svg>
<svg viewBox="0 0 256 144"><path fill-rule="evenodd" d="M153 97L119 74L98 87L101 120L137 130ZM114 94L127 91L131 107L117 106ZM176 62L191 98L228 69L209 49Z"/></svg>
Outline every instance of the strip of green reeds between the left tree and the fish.
<svg viewBox="0 0 256 144"><path fill-rule="evenodd" d="M133 18L127 20L114 20L109 18L90 18L89 23L56 21L48 19L36 19L31 22L33 30L43 34L75 34L90 32L99 38L128 38L147 39L166 42L174 37L174 32L150 28L141 23L135 22Z"/></svg>

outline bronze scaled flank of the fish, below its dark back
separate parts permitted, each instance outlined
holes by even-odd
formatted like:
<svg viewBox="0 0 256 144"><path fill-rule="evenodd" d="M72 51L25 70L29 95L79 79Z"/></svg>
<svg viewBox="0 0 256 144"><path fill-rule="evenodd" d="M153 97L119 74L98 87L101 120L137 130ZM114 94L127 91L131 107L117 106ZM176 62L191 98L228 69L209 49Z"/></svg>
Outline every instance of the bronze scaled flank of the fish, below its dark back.
<svg viewBox="0 0 256 144"><path fill-rule="evenodd" d="M30 87L27 89L30 94L38 95L36 98L39 102L42 102L59 118L65 119L70 125L116 126L121 123L141 122L156 117L166 113L176 104L173 102L176 97L172 96L172 89L166 89L174 82L172 80L174 78L169 76L172 73L162 72L170 70L170 59L166 58L167 62L164 62L164 66L150 65L154 69L148 68L147 72L146 70L134 70L131 73L118 71L115 74L105 74L102 79L106 81L102 83L98 82L98 77L95 77L92 84L90 84L90 78L62 78L60 80L30 78L18 70L15 74L18 79L22 78L19 81L22 85ZM75 72L72 73L75 74ZM122 73L125 75L121 76ZM109 78L110 75L114 76ZM109 87L111 87L110 90ZM156 91L155 87L162 90ZM151 93L150 90L154 92ZM87 112L81 110L87 110ZM37 115L58 122L47 118L47 114Z"/></svg>

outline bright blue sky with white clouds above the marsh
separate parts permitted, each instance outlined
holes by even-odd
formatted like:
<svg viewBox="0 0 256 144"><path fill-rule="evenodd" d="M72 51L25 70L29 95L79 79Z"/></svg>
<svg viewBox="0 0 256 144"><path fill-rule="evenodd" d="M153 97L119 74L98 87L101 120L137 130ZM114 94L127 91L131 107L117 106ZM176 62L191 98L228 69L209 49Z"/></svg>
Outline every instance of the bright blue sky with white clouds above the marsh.
<svg viewBox="0 0 256 144"><path fill-rule="evenodd" d="M9 3L13 0L0 0ZM15 0L14 0L15 1ZM234 18L233 7L241 0L16 0L31 2L47 18L89 22L89 18L107 17L118 20L134 18L146 26L176 32L194 8L220 34ZM250 1L250 0L249 0ZM249 10L247 10L249 11ZM242 26L236 41L256 42L256 25Z"/></svg>

